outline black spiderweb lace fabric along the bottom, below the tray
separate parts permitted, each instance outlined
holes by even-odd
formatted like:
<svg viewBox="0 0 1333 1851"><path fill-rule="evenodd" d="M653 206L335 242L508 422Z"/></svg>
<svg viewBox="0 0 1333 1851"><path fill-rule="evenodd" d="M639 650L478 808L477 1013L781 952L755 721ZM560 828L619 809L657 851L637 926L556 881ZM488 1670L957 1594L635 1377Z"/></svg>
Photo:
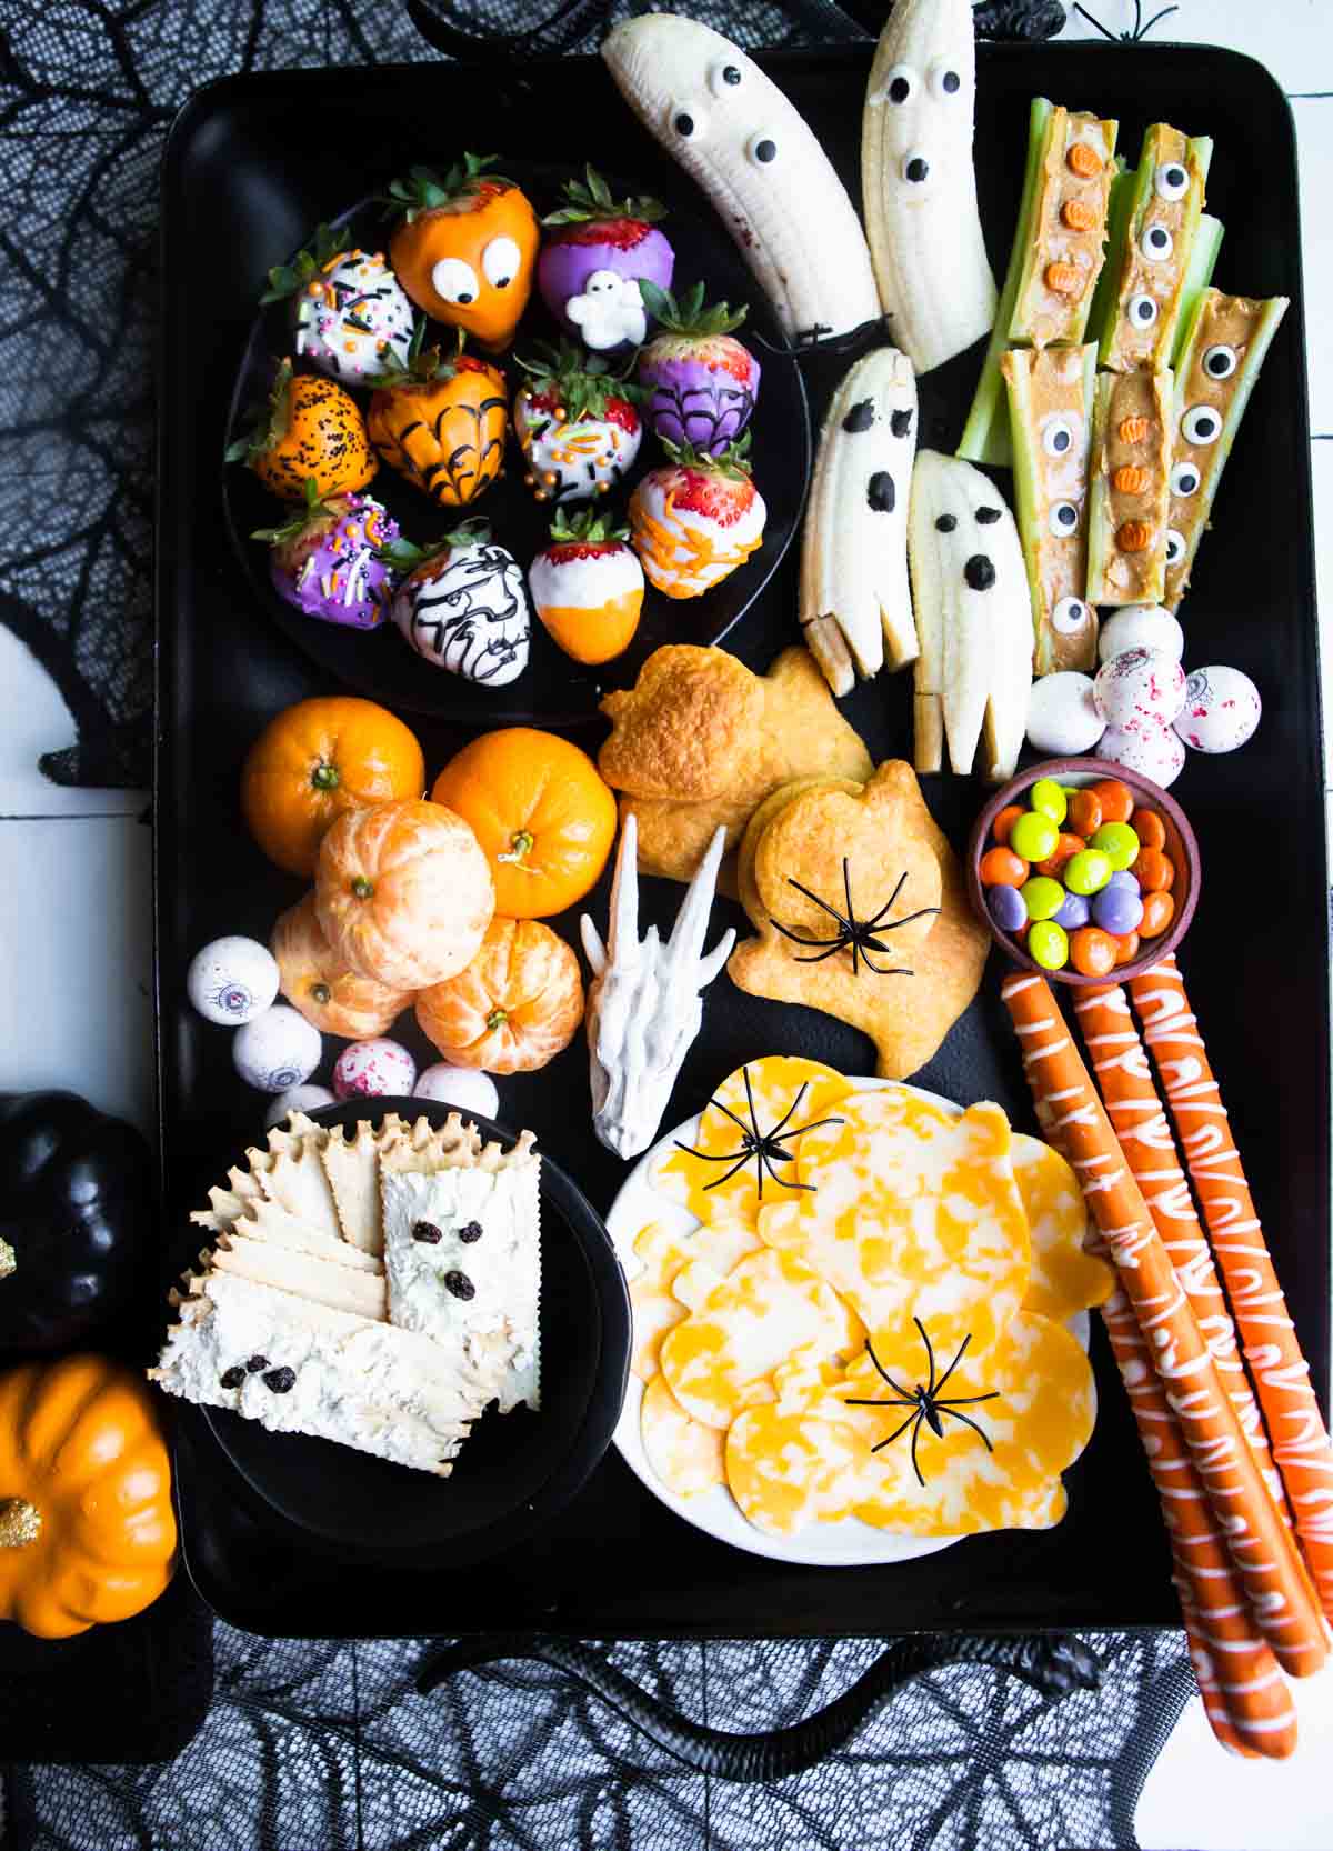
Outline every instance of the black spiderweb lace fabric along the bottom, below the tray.
<svg viewBox="0 0 1333 1851"><path fill-rule="evenodd" d="M209 1718L156 1768L31 1768L15 1851L1039 1851L1133 1845L1189 1662L1094 1634L1100 1694L994 1671L898 1692L816 1770L739 1786L681 1770L544 1666L413 1692L424 1642L268 1644L217 1629ZM617 1646L646 1690L728 1729L831 1701L879 1646Z"/></svg>

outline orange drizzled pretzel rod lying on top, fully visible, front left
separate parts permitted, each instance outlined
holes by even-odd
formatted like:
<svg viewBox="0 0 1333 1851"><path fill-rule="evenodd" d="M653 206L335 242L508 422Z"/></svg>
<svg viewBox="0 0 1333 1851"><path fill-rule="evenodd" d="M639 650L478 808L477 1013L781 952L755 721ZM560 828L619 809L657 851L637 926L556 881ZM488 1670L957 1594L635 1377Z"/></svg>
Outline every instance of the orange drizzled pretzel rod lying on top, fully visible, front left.
<svg viewBox="0 0 1333 1851"><path fill-rule="evenodd" d="M1194 1312L1042 977L1015 972L1000 990L1033 1096L1074 1166L1120 1286L1153 1357L1166 1405L1213 1507L1255 1625L1292 1677L1327 1658L1324 1620L1303 1562L1222 1392Z"/></svg>

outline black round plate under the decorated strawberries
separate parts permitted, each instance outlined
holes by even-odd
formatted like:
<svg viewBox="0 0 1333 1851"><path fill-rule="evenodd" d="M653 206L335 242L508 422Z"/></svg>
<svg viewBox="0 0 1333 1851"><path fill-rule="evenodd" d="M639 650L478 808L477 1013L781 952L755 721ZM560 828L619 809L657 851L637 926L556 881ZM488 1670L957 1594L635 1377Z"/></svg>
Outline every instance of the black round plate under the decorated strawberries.
<svg viewBox="0 0 1333 1851"><path fill-rule="evenodd" d="M567 178L567 170L554 167L505 161L505 168L513 170L515 180L520 181L539 213L555 204L559 185ZM642 185L618 176L611 180L611 187L617 196L642 191ZM666 598L648 585L635 639L613 663L587 668L570 661L533 616L528 668L507 687L485 689L424 661L407 648L392 624L381 624L372 631L346 629L305 616L280 598L268 578L268 548L248 537L255 528L276 524L280 503L248 468L231 465L224 470L222 491L231 548L254 594L274 624L320 668L370 700L389 707L405 707L411 713L435 714L463 726L526 722L570 726L596 713L605 689L631 687L646 657L663 642L720 642L755 602L791 546L805 502L811 468L805 383L794 357L787 352L770 352L770 346L783 348L783 335L763 292L755 289L735 244L718 220L711 215L700 217L676 200L665 204L670 207L665 231L676 250L676 287L681 289L702 278L709 302L726 300L733 307L744 302L750 307L741 337L754 346L763 368L752 420L754 479L768 509L763 546L702 598ZM385 244L385 222L380 207L370 202L352 207L335 222L346 224L350 241L363 248L381 250ZM287 304L274 304L254 320L231 394L228 418L231 435L246 428L248 407L267 396L274 361L291 352L285 315ZM531 354L535 341L555 341L559 333L541 296L533 291L513 348L498 357L487 355L505 372L511 396L522 378L513 365L513 354ZM428 329L428 341L441 341L448 346L452 339L448 328L431 324ZM481 348L476 352L481 354ZM341 383L346 385L346 381ZM354 389L354 398L365 411L370 394L365 389ZM661 444L650 431L644 431L633 470L620 491L609 498L615 511L624 511L633 483L663 459ZM439 507L387 465L381 465L368 492L394 515L404 537L418 544L448 533L467 515L485 515L494 529L494 539L515 555L526 572L548 540L554 509L550 503L533 500L522 483L518 465L518 444L511 433L505 474L474 503L461 509Z"/></svg>

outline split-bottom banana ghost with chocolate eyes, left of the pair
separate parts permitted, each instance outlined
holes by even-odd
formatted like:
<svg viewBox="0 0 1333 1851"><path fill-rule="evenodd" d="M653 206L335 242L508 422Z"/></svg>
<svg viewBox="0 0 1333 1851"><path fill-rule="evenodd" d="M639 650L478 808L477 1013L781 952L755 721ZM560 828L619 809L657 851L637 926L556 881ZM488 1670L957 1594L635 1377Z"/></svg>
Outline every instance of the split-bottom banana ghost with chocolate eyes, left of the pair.
<svg viewBox="0 0 1333 1851"><path fill-rule="evenodd" d="M916 657L907 589L907 500L916 379L876 348L842 379L824 420L802 548L800 624L835 694Z"/></svg>

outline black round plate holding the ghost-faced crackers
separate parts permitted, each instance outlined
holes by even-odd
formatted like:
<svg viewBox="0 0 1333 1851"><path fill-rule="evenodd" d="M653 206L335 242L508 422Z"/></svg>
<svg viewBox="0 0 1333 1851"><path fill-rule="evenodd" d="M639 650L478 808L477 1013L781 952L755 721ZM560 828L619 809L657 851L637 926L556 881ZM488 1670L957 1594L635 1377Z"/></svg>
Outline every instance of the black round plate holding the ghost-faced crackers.
<svg viewBox="0 0 1333 1851"><path fill-rule="evenodd" d="M350 1125L385 1112L442 1125L431 1099L348 1099L313 1112ZM515 1135L468 1118L509 1146ZM472 1427L448 1479L368 1453L268 1433L226 1409L206 1418L248 1486L313 1542L357 1557L426 1553L480 1560L531 1534L583 1486L620 1418L629 1373L629 1294L611 1238L559 1164L542 1155L542 1407L489 1409Z"/></svg>

